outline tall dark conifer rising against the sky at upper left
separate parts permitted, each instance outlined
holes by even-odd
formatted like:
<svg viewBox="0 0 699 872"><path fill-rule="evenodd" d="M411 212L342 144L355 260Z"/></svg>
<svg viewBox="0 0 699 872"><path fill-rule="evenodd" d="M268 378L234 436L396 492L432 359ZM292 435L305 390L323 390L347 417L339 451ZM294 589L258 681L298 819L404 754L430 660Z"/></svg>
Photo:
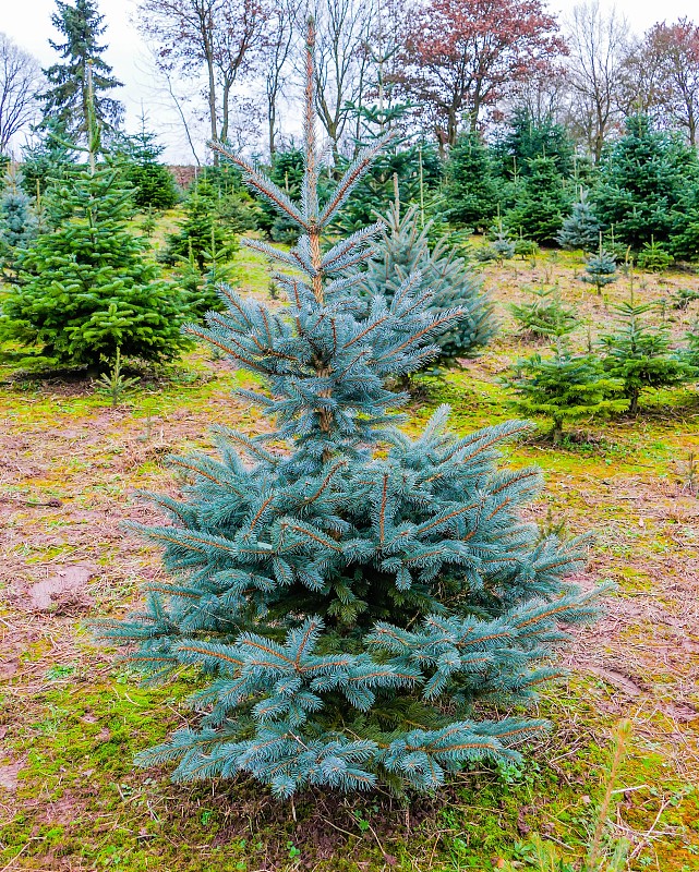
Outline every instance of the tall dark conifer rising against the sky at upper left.
<svg viewBox="0 0 699 872"><path fill-rule="evenodd" d="M39 98L44 104L45 121L58 122L72 137L84 138L87 135L89 66L95 117L103 131L109 133L119 126L123 107L107 96L122 83L112 76L111 66L101 57L107 48L99 45L99 37L107 29L103 25L105 16L99 14L96 0L75 0L74 5L57 0L56 5L51 24L62 34L64 41L49 40L49 44L63 62L44 70L48 84Z"/></svg>

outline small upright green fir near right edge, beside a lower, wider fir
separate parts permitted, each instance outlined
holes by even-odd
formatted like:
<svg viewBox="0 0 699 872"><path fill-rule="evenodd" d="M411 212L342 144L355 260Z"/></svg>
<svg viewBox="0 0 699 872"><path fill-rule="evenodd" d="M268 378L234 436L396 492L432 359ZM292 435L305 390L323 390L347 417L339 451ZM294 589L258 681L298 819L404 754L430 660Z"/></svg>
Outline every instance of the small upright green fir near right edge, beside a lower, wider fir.
<svg viewBox="0 0 699 872"><path fill-rule="evenodd" d="M670 348L670 328L664 323L649 324L646 317L658 311L656 303L639 304L634 294L614 307L617 329L601 337L604 368L624 383L628 411L638 413L641 393L651 388L683 385L696 370Z"/></svg>

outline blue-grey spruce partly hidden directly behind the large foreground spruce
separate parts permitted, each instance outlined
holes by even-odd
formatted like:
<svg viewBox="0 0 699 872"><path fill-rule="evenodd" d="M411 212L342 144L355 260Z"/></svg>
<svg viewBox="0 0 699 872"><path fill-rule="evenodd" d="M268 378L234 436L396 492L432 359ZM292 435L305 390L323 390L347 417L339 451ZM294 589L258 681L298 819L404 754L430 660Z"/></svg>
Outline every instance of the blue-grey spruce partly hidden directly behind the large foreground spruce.
<svg viewBox="0 0 699 872"><path fill-rule="evenodd" d="M439 347L437 362L446 364L485 346L495 332L495 320L493 305L466 262L446 240L439 240L431 251L429 234L430 223L421 227L417 206L401 218L400 204L394 203L376 252L366 265L362 290L370 298L383 294L390 301L408 277L419 272L419 287L432 293L431 312L439 315L460 308L462 317L445 325L434 339Z"/></svg>

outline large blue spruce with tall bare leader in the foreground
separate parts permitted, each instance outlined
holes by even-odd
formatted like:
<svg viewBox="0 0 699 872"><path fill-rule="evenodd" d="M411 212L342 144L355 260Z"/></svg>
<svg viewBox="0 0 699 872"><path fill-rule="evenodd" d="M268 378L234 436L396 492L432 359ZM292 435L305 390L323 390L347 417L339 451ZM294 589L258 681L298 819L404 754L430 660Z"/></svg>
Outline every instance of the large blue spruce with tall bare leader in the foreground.
<svg viewBox="0 0 699 872"><path fill-rule="evenodd" d="M527 702L558 674L543 659L569 639L563 623L595 616L596 592L565 580L579 543L540 541L520 516L539 471L497 468L526 424L456 437L443 408L415 440L395 428L406 397L384 380L419 368L460 313L431 314L414 275L390 302L362 304L358 266L378 228L334 243L325 233L386 141L321 207L312 51L311 26L300 203L215 145L302 234L289 253L250 242L293 268L277 276L288 304L224 290L226 314L189 328L265 379L244 396L276 428L219 427L219 459L173 459L185 494L156 498L173 524L142 530L174 577L147 585L142 613L100 629L135 643L126 656L146 673L194 666L204 682L198 724L142 765L174 761L180 780L249 774L279 797L309 785L433 790L475 760L519 760L515 746L545 728L483 706Z"/></svg>

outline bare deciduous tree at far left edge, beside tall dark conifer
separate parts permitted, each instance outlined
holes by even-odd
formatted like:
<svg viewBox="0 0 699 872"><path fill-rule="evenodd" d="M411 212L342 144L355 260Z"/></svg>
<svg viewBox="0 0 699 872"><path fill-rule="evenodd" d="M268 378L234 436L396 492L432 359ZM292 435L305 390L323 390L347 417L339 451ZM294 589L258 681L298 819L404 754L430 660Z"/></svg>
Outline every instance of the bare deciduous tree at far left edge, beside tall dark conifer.
<svg viewBox="0 0 699 872"><path fill-rule="evenodd" d="M0 152L33 120L41 83L41 70L32 55L0 34Z"/></svg>

